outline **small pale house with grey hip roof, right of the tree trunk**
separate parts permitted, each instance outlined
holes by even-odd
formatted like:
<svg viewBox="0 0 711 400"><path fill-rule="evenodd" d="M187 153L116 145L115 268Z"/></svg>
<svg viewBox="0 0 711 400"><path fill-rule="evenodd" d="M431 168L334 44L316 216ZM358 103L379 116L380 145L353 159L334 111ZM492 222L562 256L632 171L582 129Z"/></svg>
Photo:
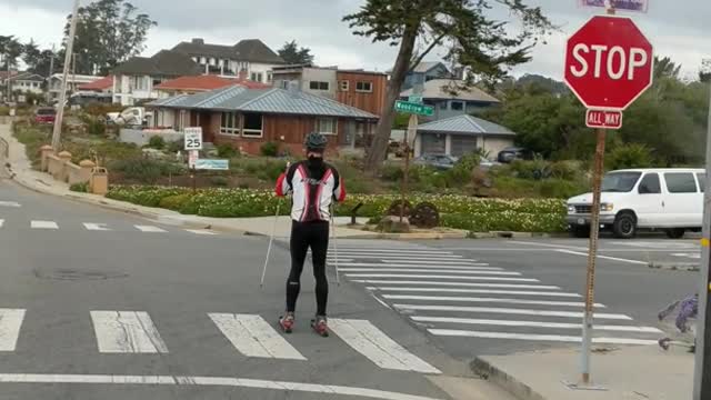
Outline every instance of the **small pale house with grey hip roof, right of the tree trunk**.
<svg viewBox="0 0 711 400"><path fill-rule="evenodd" d="M513 146L515 133L510 129L472 116L458 116L418 128L414 157L447 154L462 157L478 149L495 157Z"/></svg>

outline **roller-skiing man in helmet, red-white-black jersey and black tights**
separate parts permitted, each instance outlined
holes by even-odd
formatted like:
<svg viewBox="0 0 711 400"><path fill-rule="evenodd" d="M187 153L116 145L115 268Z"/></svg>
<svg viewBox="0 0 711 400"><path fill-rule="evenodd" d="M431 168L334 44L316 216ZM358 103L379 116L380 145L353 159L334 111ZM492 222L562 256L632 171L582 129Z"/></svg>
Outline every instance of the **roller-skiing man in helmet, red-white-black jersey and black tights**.
<svg viewBox="0 0 711 400"><path fill-rule="evenodd" d="M346 199L346 188L340 174L326 163L323 153L328 139L321 133L310 133L304 141L307 160L294 163L277 181L277 196L292 193L291 207L291 272L287 280L287 313L279 324L287 333L294 326L297 299L301 290L301 272L311 249L313 277L316 278L317 313L311 327L328 337L326 307L329 282L326 278L326 257L329 248L330 207L333 200Z"/></svg>

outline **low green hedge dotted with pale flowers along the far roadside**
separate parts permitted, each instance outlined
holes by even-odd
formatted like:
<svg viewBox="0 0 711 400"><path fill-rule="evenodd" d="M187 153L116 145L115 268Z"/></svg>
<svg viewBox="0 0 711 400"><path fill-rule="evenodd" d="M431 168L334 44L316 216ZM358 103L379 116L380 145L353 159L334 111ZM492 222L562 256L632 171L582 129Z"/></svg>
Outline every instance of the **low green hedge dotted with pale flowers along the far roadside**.
<svg viewBox="0 0 711 400"><path fill-rule="evenodd" d="M192 194L188 188L141 186L111 187L108 198L147 207L162 207L188 214L217 218L268 217L277 212L288 216L287 199L271 191L251 189L204 189ZM350 216L358 203L363 206L359 217L385 214L398 196L352 194L339 204L337 216ZM470 231L532 231L555 232L565 229L565 202L559 199L478 199L465 196L413 194L413 204L431 202L442 214L442 226Z"/></svg>

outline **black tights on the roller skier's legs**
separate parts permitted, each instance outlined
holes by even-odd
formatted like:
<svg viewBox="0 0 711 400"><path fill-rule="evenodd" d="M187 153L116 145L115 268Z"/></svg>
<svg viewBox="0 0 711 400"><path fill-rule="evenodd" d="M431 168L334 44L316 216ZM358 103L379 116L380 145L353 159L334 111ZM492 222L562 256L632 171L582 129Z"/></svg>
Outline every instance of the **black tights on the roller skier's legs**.
<svg viewBox="0 0 711 400"><path fill-rule="evenodd" d="M287 311L294 312L301 291L301 272L311 248L313 277L316 278L317 314L326 316L329 298L329 281L326 278L326 254L329 249L329 223L293 222L291 227L291 272L287 281Z"/></svg>

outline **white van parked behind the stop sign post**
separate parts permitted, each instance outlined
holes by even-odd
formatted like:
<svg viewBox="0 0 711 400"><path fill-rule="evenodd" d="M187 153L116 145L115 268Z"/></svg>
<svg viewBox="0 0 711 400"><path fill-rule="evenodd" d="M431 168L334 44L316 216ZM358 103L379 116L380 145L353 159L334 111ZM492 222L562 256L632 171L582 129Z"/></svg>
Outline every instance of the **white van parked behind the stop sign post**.
<svg viewBox="0 0 711 400"><path fill-rule="evenodd" d="M672 239L701 231L703 169L631 169L612 171L602 181L600 226L617 238L631 239L639 229L660 229ZM592 193L568 200L573 236L590 236Z"/></svg>

